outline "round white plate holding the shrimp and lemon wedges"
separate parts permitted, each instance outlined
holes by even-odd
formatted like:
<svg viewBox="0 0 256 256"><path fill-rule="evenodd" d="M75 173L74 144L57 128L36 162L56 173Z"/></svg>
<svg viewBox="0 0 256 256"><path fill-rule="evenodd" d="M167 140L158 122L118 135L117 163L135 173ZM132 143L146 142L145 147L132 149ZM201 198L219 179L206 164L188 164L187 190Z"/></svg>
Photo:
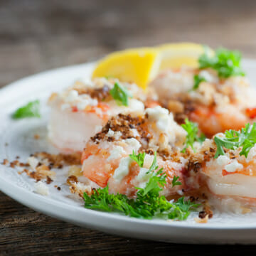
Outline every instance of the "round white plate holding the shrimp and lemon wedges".
<svg viewBox="0 0 256 256"><path fill-rule="evenodd" d="M243 66L252 83L256 83L256 61L245 60ZM22 161L35 151L54 151L45 139L47 97L50 92L61 90L74 80L90 75L92 68L93 63L60 68L24 78L0 90L0 162L3 159L14 160L16 156L21 156ZM14 121L10 118L17 107L35 99L41 100L41 119ZM34 134L40 134L41 139L33 139ZM207 224L198 224L193 220L196 216L193 214L183 222L168 222L87 210L82 207L82 201L70 198L60 173L62 171L58 171L56 181L49 185L50 196L41 196L33 192L35 182L31 178L0 165L0 188L11 198L41 213L107 233L168 242L256 244L256 213L215 213ZM61 186L61 191L54 188L55 184Z"/></svg>

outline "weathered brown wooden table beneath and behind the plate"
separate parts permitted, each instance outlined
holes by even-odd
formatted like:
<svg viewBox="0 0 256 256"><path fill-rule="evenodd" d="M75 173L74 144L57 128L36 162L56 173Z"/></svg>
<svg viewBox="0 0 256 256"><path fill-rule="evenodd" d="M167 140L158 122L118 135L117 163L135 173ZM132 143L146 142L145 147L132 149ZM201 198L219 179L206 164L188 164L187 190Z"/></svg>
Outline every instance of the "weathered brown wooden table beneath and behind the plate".
<svg viewBox="0 0 256 256"><path fill-rule="evenodd" d="M0 87L113 50L193 41L256 57L256 1L0 1ZM248 255L253 246L198 246L107 235L55 220L0 192L0 255ZM154 232L154 230L152 230Z"/></svg>

